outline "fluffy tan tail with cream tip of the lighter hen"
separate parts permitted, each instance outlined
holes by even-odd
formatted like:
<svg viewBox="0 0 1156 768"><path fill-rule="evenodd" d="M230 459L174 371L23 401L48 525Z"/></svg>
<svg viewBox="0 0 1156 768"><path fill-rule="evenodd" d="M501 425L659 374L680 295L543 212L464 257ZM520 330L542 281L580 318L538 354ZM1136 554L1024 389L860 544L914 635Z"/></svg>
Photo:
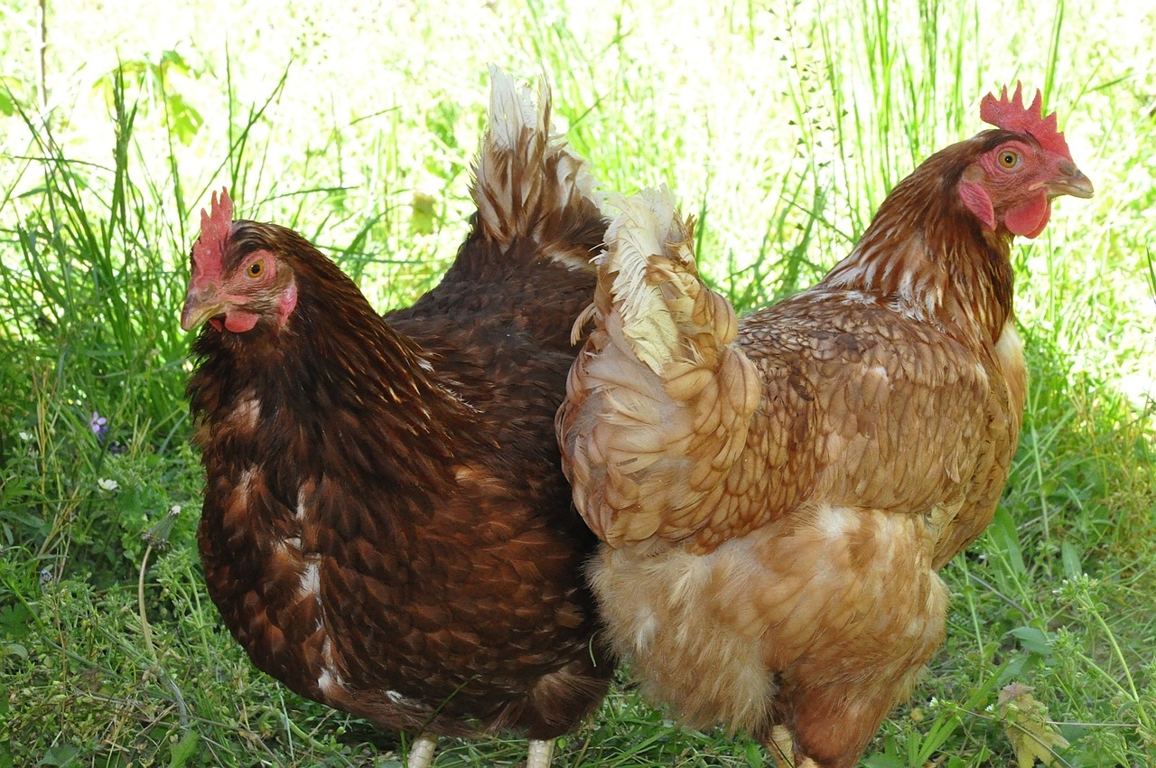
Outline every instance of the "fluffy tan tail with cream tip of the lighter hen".
<svg viewBox="0 0 1156 768"><path fill-rule="evenodd" d="M681 541L728 514L725 478L758 405L734 310L698 278L669 192L617 199L598 258L594 331L558 413L578 511L613 547ZM709 546L707 542L704 545Z"/></svg>

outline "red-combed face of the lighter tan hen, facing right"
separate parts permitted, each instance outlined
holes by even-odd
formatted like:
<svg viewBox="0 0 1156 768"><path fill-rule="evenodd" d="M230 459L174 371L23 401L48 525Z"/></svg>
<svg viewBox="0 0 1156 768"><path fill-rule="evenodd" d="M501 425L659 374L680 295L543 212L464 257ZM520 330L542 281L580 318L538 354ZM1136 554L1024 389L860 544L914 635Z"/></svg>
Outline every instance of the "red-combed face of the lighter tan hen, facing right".
<svg viewBox="0 0 1156 768"><path fill-rule="evenodd" d="M1092 185L1080 172L1064 134L1055 130L1055 113L1043 117L1042 96L1023 104L1016 83L1008 98L988 94L979 116L1000 131L980 134L990 142L959 180L959 197L987 231L1036 237L1052 215L1052 198L1070 194L1090 198Z"/></svg>

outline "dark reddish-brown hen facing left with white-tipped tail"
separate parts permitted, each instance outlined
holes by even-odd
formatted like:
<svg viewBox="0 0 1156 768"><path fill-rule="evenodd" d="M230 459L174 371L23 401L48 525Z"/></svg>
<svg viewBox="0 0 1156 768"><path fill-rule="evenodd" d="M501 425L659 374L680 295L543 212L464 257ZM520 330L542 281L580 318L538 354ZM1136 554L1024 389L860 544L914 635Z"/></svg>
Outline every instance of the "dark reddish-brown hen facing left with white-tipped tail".
<svg viewBox="0 0 1156 768"><path fill-rule="evenodd" d="M214 195L181 326L209 593L253 663L387 729L514 729L529 766L602 699L596 544L554 437L605 221L544 84L491 71L472 231L383 319L316 248Z"/></svg>

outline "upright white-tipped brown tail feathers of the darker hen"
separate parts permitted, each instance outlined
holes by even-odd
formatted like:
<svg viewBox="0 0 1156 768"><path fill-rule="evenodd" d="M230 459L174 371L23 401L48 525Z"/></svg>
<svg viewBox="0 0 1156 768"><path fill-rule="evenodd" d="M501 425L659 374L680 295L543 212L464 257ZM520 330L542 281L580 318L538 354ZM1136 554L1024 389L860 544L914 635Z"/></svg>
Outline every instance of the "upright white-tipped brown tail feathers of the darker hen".
<svg viewBox="0 0 1156 768"><path fill-rule="evenodd" d="M490 67L489 128L474 177L470 194L486 237L503 250L529 241L554 261L593 271L590 249L605 227L594 177L587 162L553 133L544 76L535 106L527 88Z"/></svg>

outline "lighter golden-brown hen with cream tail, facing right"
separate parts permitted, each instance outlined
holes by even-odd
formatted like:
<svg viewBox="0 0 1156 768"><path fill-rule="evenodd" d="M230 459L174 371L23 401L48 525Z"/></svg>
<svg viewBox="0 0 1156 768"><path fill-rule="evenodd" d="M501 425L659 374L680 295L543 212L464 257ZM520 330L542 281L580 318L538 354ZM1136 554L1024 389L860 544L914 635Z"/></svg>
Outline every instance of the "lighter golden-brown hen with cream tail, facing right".
<svg viewBox="0 0 1156 768"><path fill-rule="evenodd" d="M621 202L558 413L614 647L689 723L851 768L943 638L1024 404L1014 235L1090 197L1054 115L984 99L818 285L736 320L668 194Z"/></svg>

